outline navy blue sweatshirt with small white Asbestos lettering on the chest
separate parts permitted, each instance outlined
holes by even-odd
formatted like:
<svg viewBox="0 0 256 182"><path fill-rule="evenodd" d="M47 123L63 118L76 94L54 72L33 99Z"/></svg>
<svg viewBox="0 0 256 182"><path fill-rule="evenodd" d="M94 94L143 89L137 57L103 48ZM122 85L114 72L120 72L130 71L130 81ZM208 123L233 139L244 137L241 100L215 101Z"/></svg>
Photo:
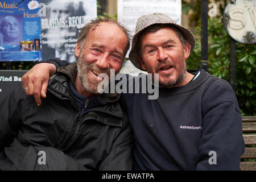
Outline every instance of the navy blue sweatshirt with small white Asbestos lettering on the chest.
<svg viewBox="0 0 256 182"><path fill-rule="evenodd" d="M148 100L147 93L127 93L122 101L134 130L135 170L240 169L242 118L225 80L200 70L187 85L159 88L156 100Z"/></svg>

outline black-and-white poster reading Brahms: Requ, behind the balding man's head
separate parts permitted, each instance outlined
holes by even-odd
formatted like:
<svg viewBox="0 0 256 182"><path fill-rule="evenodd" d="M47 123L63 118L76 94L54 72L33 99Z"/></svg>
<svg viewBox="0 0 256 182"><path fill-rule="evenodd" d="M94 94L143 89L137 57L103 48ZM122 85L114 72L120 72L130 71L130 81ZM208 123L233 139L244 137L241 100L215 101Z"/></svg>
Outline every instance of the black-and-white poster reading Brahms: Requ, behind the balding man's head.
<svg viewBox="0 0 256 182"><path fill-rule="evenodd" d="M96 0L41 0L46 14L41 16L43 60L59 57L76 61L75 47L81 28L97 18Z"/></svg>

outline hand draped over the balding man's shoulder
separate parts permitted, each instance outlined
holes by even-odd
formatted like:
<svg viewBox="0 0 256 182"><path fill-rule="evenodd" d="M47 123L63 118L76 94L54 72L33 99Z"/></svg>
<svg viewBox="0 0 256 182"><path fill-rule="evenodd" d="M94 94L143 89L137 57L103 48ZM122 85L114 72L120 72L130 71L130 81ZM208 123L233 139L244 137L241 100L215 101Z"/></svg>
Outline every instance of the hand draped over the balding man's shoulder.
<svg viewBox="0 0 256 182"><path fill-rule="evenodd" d="M56 72L56 67L51 63L39 63L22 77L23 90L28 96L34 96L36 104L42 104L41 97L46 98L49 76Z"/></svg>

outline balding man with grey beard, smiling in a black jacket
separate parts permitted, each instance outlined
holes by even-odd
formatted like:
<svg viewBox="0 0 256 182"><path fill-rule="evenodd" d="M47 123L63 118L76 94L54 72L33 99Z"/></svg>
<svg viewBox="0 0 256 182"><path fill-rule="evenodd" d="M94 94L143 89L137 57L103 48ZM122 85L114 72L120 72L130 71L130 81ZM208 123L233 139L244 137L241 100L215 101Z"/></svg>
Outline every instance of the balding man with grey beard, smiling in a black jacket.
<svg viewBox="0 0 256 182"><path fill-rule="evenodd" d="M93 20L77 40L77 65L49 80L40 107L21 84L0 101L0 169L131 170L133 134L119 95L97 92L98 75L119 72L129 46L121 24Z"/></svg>

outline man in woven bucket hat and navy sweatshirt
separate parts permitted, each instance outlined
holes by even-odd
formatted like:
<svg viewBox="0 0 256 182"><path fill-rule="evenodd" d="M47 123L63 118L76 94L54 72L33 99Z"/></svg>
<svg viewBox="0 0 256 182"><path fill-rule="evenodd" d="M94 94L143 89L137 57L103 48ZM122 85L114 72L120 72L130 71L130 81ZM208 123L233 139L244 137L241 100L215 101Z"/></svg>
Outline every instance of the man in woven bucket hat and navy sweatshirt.
<svg viewBox="0 0 256 182"><path fill-rule="evenodd" d="M135 170L240 169L245 146L236 95L225 80L203 69L186 69L185 60L194 47L191 31L167 15L143 15L137 21L129 59L138 69L156 73L159 97L122 94L134 131ZM24 86L31 85L27 76Z"/></svg>

